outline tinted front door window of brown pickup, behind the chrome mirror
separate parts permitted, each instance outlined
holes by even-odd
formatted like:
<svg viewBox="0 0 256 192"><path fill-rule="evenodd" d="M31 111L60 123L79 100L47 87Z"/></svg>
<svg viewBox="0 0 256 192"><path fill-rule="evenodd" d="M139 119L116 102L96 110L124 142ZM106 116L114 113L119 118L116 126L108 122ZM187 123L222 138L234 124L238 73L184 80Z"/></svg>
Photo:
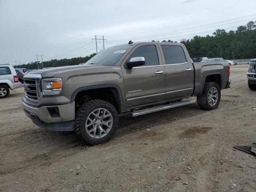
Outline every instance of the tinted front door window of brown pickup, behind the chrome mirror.
<svg viewBox="0 0 256 192"><path fill-rule="evenodd" d="M132 57L144 57L144 66L159 65L158 54L155 45L142 45L138 47L130 56ZM128 60L130 60L130 58Z"/></svg>

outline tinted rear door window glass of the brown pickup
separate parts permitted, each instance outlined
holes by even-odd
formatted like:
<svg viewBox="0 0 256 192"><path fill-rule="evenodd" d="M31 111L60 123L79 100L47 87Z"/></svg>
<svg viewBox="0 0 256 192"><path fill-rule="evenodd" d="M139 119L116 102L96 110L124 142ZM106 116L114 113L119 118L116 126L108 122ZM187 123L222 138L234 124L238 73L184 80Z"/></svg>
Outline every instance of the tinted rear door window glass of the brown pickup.
<svg viewBox="0 0 256 192"><path fill-rule="evenodd" d="M181 46L177 45L161 45L164 52L165 64L181 64L186 63L186 56Z"/></svg>

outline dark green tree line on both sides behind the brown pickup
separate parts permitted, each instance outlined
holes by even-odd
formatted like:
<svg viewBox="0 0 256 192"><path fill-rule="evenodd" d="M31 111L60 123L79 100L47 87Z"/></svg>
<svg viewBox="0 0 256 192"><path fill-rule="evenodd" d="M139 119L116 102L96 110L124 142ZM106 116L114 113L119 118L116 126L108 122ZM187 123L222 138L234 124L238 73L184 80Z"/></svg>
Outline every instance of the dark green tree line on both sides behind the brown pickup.
<svg viewBox="0 0 256 192"><path fill-rule="evenodd" d="M152 42L159 42L152 40ZM173 42L172 40L163 40L162 42ZM250 21L245 26L239 26L236 31L226 32L224 29L217 29L211 36L194 36L192 39L180 40L190 54L191 58L199 57L222 57L224 59L244 59L256 58L256 22ZM96 53L86 57L71 59L53 59L44 62L44 67L58 67L78 65L85 63ZM39 62L40 68L42 64ZM36 69L37 63L23 64L22 68Z"/></svg>

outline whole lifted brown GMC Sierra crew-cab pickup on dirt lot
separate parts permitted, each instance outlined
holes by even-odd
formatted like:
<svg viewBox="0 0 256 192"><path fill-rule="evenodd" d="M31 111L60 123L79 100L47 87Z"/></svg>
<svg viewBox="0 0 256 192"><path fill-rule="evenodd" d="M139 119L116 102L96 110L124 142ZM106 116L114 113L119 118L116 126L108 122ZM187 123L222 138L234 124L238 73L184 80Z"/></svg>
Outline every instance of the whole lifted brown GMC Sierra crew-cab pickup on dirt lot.
<svg viewBox="0 0 256 192"><path fill-rule="evenodd" d="M193 63L183 44L141 42L103 50L77 66L48 68L24 76L24 112L34 124L72 131L88 144L107 142L118 114L132 117L196 100L212 110L230 87L228 62Z"/></svg>

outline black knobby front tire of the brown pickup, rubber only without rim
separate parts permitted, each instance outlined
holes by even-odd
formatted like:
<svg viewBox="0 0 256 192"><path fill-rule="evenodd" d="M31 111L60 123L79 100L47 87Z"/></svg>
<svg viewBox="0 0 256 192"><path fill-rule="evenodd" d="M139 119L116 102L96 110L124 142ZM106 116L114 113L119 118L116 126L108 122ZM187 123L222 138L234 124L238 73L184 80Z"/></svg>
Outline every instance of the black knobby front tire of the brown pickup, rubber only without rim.
<svg viewBox="0 0 256 192"><path fill-rule="evenodd" d="M85 124L86 119L90 115L92 111L97 108L105 108L107 109L113 118L112 128L108 132L106 136L103 138L92 138L86 132ZM90 100L84 102L76 112L76 120L75 120L75 132L82 141L82 143L90 144L90 145L97 145L108 142L115 134L116 127L118 126L118 113L116 108L106 102L104 100Z"/></svg>

